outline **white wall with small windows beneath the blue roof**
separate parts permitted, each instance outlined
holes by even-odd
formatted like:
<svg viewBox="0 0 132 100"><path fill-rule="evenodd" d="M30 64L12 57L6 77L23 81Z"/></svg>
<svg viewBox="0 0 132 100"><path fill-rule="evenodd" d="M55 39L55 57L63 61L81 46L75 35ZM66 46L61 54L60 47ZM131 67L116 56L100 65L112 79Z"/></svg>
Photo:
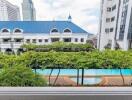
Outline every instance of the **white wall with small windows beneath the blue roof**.
<svg viewBox="0 0 132 100"><path fill-rule="evenodd" d="M63 38L71 38L71 43L82 43L85 44L87 41L87 34L82 34L82 33L62 33L62 34L47 34L47 33L2 33L0 32L0 48L2 52L5 52L6 49L13 49L14 51L17 51L23 44L27 44L27 39L30 39L30 43L33 43L33 39L36 40L36 45L47 45L51 44L51 38L59 38L60 41L63 41ZM11 41L9 42L3 42L3 39L8 39L10 38ZM78 39L78 42L75 42L75 38ZM84 42L81 42L81 38L84 39ZM22 39L21 42L15 42L14 39ZM39 42L39 39L42 39L42 42ZM48 42L45 42L45 39L48 39Z"/></svg>

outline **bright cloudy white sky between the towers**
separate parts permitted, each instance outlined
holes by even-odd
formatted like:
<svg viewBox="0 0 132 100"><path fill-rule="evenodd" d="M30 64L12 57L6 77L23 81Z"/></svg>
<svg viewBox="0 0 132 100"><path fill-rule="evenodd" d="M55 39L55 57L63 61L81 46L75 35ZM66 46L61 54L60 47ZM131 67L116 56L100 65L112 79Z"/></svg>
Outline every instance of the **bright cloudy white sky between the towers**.
<svg viewBox="0 0 132 100"><path fill-rule="evenodd" d="M22 0L7 0L21 9ZM97 34L100 14L100 0L32 0L37 20L72 21L92 34Z"/></svg>

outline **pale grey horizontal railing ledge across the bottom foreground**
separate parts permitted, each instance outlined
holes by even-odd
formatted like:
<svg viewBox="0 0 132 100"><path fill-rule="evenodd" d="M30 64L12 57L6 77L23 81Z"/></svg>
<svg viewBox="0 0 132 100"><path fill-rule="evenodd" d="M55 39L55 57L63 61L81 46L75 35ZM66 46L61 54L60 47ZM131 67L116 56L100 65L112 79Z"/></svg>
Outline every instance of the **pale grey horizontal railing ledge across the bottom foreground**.
<svg viewBox="0 0 132 100"><path fill-rule="evenodd" d="M51 87L50 88L49 87L1 87L0 95L73 95L73 96L127 95L128 96L128 95L132 95L132 88L131 87L61 87L61 88L58 88L58 87L52 87L52 88ZM72 98L72 100L74 99ZM81 98L80 100L83 100L83 99ZM99 99L97 98L97 100ZM106 99L103 99L103 100L106 100ZM123 99L123 100L131 100L131 99Z"/></svg>

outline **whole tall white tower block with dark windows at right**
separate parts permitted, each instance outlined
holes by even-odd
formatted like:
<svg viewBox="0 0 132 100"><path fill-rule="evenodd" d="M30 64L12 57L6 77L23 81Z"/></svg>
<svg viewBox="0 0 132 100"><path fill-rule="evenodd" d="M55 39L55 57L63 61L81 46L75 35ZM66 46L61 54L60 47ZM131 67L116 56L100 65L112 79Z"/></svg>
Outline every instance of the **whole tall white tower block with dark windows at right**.
<svg viewBox="0 0 132 100"><path fill-rule="evenodd" d="M132 48L132 0L102 0L98 48Z"/></svg>

